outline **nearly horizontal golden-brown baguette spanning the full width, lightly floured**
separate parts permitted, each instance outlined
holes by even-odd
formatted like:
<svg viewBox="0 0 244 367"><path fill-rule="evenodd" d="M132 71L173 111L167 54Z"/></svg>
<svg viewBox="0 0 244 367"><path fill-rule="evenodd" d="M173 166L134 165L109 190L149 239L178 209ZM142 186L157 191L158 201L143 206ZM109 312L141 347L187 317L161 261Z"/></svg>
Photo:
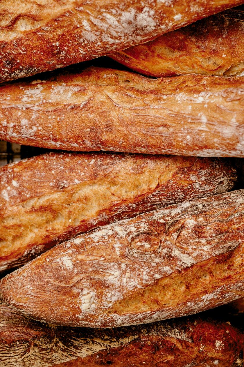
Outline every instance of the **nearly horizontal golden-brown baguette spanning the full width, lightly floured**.
<svg viewBox="0 0 244 367"><path fill-rule="evenodd" d="M89 68L0 87L0 139L65 150L244 157L244 77Z"/></svg>

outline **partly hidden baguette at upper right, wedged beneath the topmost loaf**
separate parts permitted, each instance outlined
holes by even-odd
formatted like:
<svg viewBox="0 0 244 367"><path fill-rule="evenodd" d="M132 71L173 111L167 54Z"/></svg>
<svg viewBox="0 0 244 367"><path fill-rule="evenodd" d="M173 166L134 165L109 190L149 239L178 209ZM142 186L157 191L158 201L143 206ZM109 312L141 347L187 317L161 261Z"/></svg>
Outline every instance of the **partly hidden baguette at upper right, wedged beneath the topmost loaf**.
<svg viewBox="0 0 244 367"><path fill-rule="evenodd" d="M243 23L243 10L226 10L109 56L139 73L156 77L244 75Z"/></svg>

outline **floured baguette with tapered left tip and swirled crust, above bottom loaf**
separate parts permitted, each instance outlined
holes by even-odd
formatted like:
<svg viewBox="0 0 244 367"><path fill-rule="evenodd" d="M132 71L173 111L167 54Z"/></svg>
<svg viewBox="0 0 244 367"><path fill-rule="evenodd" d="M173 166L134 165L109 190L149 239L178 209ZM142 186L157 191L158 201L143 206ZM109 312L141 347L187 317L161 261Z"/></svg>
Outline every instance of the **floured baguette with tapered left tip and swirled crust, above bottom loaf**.
<svg viewBox="0 0 244 367"><path fill-rule="evenodd" d="M1 303L66 326L117 327L244 295L244 189L95 229L0 280Z"/></svg>

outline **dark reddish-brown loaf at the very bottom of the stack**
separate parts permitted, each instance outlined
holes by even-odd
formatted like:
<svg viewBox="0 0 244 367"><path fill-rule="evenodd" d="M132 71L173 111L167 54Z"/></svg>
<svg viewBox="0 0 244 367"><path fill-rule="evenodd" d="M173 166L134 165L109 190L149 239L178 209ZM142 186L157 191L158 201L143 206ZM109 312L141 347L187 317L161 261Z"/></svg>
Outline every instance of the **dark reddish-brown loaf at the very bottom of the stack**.
<svg viewBox="0 0 244 367"><path fill-rule="evenodd" d="M204 314L117 329L74 329L40 324L0 306L0 367L241 367L243 343L228 319Z"/></svg>

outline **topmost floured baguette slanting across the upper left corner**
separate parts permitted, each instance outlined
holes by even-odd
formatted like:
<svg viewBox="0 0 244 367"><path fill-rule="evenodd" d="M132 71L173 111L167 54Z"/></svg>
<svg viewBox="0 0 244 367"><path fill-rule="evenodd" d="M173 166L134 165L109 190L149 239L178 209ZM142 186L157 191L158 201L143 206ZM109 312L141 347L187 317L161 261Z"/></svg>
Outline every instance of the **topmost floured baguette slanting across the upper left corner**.
<svg viewBox="0 0 244 367"><path fill-rule="evenodd" d="M243 0L4 0L0 81L106 55Z"/></svg>

